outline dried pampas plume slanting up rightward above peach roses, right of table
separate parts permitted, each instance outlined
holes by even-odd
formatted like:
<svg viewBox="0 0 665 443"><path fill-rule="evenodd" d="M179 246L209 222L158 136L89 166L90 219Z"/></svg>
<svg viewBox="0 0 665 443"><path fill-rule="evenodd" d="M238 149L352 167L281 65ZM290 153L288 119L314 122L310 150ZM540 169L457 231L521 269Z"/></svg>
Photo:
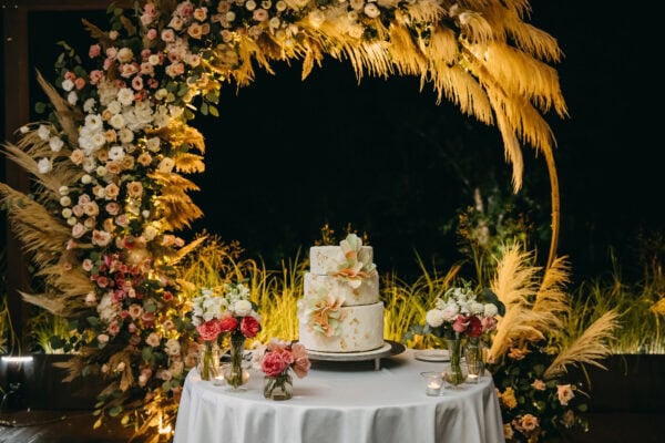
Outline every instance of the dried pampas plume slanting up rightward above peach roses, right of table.
<svg viewBox="0 0 665 443"><path fill-rule="evenodd" d="M582 334L561 350L552 364L545 370L545 380L555 378L566 372L566 365L593 364L606 369L600 360L610 356L608 341L614 338L614 331L618 327L618 315L612 310L605 312L594 321Z"/></svg>

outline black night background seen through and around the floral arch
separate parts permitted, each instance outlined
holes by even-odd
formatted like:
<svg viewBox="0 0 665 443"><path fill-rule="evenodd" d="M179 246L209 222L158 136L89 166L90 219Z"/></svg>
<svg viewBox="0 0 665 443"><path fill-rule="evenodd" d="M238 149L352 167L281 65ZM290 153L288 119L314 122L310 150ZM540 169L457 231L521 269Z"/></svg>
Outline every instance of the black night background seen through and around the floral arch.
<svg viewBox="0 0 665 443"><path fill-rule="evenodd" d="M626 27L630 17L620 25L617 17L572 0L531 4L530 21L555 37L565 54L555 68L570 117L546 116L559 142L559 254L570 256L582 278L610 271L613 247L622 266L638 275L638 234L664 234L662 112L649 111L659 105L653 85L659 74L640 68L648 55L641 49L651 41L647 18L641 13L638 25ZM47 78L60 52L55 41L86 53L81 17L108 23L101 11L31 17L30 63ZM415 271L416 251L447 270L461 256L446 227L472 204L472 189L511 196L498 131L447 102L437 105L429 85L420 92L418 80L406 78L358 84L350 63L334 60L305 82L298 62L275 68L276 75L258 72L249 87L226 84L221 117L192 123L206 138L207 171L192 176L205 217L186 235L207 229L237 239L247 255L274 267L298 249L303 257L325 223L338 233L350 223L369 235L381 271ZM31 100L39 99L35 91ZM542 156L530 146L523 155L525 185L514 197L530 202L522 209L545 235L534 240L544 260L549 178Z"/></svg>

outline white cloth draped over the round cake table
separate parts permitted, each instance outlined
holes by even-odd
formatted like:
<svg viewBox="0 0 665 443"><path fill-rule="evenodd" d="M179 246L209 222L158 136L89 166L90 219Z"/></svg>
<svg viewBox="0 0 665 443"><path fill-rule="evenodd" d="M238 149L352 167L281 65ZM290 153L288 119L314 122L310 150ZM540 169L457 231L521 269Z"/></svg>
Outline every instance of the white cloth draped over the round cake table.
<svg viewBox="0 0 665 443"><path fill-rule="evenodd" d="M263 396L263 373L244 392L185 380L174 443L498 443L504 442L491 377L428 396L422 371L443 363L419 361L407 349L374 361L315 362L294 375L294 398Z"/></svg>

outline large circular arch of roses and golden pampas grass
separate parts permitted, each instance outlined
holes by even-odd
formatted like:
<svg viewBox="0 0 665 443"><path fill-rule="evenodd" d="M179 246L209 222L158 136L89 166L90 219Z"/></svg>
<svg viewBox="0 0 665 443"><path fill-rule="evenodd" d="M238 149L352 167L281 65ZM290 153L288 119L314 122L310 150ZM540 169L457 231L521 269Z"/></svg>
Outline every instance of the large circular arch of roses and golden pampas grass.
<svg viewBox="0 0 665 443"><path fill-rule="evenodd" d="M65 48L60 75L39 76L50 120L4 146L34 177L35 197L0 183L44 281L23 298L75 319L86 337L71 377L104 372L100 409L111 415L174 419L192 337L173 268L195 247L177 231L202 216L185 175L204 169L203 137L187 122L218 116L223 85L249 85L275 61L300 61L303 79L325 55L350 62L359 81L417 76L500 131L515 190L521 144L542 152L552 260L559 198L543 115L566 116L566 106L550 65L561 51L530 12L526 0L141 0L111 6L108 29L84 21L94 39L85 61Z"/></svg>

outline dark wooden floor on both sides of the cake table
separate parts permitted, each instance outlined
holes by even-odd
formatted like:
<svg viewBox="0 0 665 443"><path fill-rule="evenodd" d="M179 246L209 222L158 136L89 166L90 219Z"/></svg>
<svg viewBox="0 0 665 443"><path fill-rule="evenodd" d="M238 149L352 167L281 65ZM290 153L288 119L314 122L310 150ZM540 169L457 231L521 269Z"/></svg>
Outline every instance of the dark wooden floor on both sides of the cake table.
<svg viewBox="0 0 665 443"><path fill-rule="evenodd" d="M665 441L662 431L665 413L596 413L587 416L590 432L574 435L567 440L569 442L662 443ZM0 414L0 443L142 443L146 440L132 440L132 432L113 421L93 430L94 419L90 411L6 411ZM168 441L170 439L165 437L160 440L164 443Z"/></svg>

